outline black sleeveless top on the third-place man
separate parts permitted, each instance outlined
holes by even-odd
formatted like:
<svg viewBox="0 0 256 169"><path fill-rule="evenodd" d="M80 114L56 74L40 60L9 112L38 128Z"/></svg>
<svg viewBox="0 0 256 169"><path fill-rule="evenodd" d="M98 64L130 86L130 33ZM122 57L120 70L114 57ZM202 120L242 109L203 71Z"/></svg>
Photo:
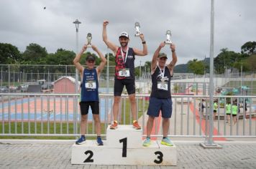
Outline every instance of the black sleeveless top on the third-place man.
<svg viewBox="0 0 256 169"><path fill-rule="evenodd" d="M163 74L164 73L164 74ZM157 66L155 72L151 74L152 80L152 92L150 97L156 97L158 99L168 99L171 98L170 95L170 71L168 67L165 66L162 72Z"/></svg>

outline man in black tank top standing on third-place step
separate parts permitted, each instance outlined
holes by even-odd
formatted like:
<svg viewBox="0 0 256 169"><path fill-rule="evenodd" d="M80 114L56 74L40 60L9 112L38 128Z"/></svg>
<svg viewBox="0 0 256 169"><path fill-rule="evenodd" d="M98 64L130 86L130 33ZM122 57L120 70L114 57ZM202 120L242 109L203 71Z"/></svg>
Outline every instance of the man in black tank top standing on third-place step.
<svg viewBox="0 0 256 169"><path fill-rule="evenodd" d="M177 56L175 53L175 45L170 44L173 59L170 64L165 65L168 59L167 55L159 53L164 46L164 42L159 45L151 62L152 92L150 95L150 105L147 110L147 138L143 143L144 146L149 146L151 144L150 135L152 127L155 117L158 117L160 112L162 113L163 120L163 140L161 141L161 144L173 146L173 143L168 138L170 117L173 108L173 102L170 95L170 78L177 62Z"/></svg>

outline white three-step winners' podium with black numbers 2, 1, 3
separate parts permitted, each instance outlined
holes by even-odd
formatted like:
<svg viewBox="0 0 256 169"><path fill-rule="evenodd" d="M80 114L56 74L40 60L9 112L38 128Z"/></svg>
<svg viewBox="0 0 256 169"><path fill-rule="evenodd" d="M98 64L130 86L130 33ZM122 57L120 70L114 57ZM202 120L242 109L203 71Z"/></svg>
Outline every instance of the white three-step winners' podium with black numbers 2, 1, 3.
<svg viewBox="0 0 256 169"><path fill-rule="evenodd" d="M142 130L132 125L119 125L116 130L106 130L104 145L96 140L86 140L83 145L72 146L72 164L91 165L177 165L175 145L161 145L152 141L149 147L142 146Z"/></svg>

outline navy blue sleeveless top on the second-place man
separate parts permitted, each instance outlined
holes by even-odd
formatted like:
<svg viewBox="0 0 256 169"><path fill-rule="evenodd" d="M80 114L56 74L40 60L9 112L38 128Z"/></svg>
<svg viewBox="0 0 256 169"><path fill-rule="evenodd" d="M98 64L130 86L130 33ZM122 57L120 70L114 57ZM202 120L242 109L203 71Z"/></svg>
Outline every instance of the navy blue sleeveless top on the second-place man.
<svg viewBox="0 0 256 169"><path fill-rule="evenodd" d="M83 70L83 82L81 84L81 102L99 102L99 82L96 69Z"/></svg>

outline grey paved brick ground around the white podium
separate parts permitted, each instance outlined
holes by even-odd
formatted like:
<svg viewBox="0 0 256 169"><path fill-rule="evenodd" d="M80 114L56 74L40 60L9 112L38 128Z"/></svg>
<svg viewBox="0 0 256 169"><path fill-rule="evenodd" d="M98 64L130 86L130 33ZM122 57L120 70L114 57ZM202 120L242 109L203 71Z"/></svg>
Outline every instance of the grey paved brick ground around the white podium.
<svg viewBox="0 0 256 169"><path fill-rule="evenodd" d="M256 142L218 142L204 149L200 141L174 141L177 166L71 165L74 140L0 140L0 168L256 168Z"/></svg>

